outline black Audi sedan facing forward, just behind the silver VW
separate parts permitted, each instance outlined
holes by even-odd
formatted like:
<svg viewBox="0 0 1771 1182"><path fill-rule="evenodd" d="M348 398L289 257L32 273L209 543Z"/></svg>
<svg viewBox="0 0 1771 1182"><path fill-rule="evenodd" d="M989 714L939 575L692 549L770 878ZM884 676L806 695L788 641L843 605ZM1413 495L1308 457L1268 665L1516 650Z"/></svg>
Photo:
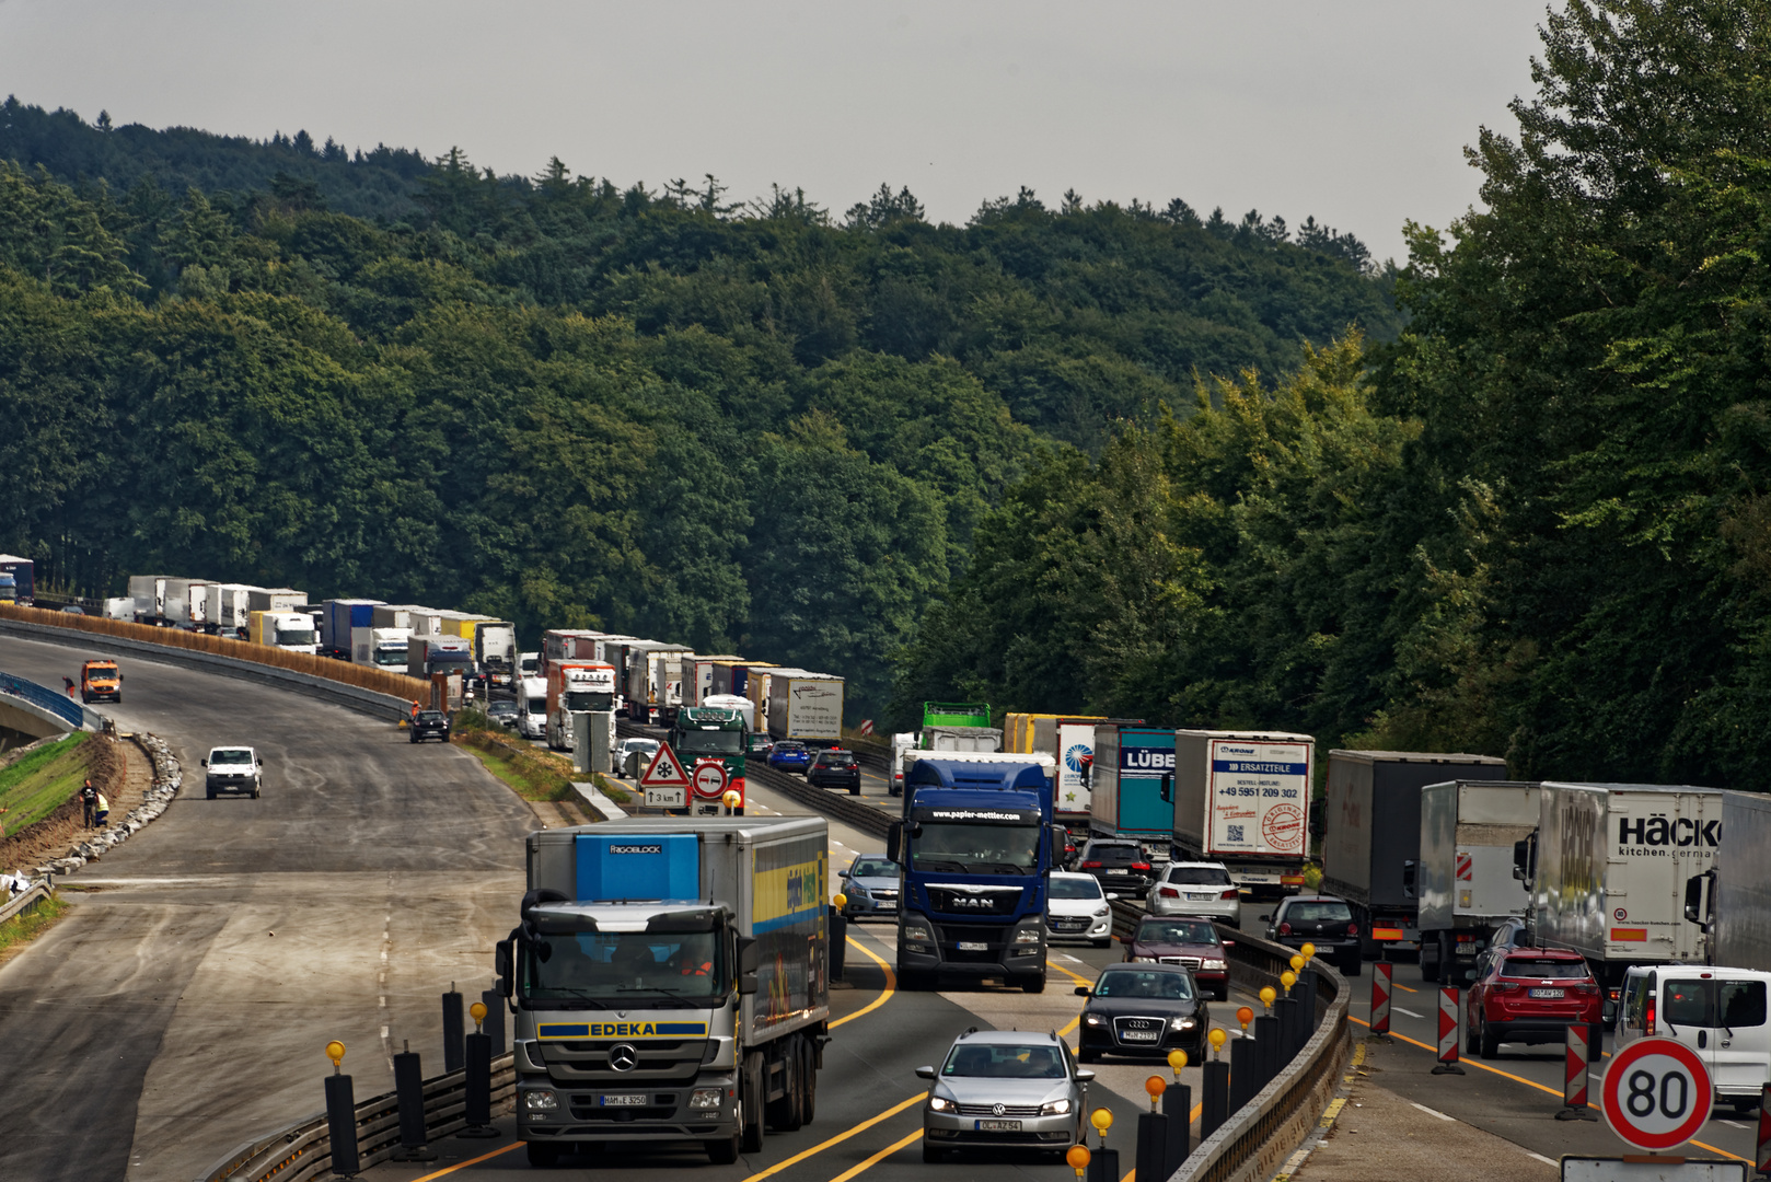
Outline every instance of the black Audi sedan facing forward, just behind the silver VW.
<svg viewBox="0 0 1771 1182"><path fill-rule="evenodd" d="M1126 964L1105 969L1093 989L1077 985L1082 1007L1077 1060L1102 1054L1164 1056L1179 1047L1204 1060L1211 1007L1199 996L1194 975L1178 964Z"/></svg>

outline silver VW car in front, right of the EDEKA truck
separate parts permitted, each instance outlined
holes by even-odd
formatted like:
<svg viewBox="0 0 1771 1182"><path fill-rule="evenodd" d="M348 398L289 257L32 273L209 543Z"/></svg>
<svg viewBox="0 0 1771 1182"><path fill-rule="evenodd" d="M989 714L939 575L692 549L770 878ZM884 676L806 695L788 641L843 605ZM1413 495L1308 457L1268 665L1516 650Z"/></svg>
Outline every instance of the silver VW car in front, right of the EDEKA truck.
<svg viewBox="0 0 1771 1182"><path fill-rule="evenodd" d="M953 1040L923 1106L923 1161L962 1148L1031 1148L1063 1157L1082 1139L1094 1072L1056 1033L969 1030Z"/></svg>

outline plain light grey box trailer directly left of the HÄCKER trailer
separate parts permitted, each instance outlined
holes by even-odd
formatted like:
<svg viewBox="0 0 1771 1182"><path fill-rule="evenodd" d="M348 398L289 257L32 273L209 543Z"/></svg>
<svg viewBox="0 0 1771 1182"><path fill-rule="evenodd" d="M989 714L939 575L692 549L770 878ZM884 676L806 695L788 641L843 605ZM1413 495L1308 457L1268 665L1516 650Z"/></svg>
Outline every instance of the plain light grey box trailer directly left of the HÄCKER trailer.
<svg viewBox="0 0 1771 1182"><path fill-rule="evenodd" d="M1420 789L1420 975L1459 989L1495 927L1523 916L1530 893L1512 847L1537 829L1535 783L1450 780Z"/></svg>

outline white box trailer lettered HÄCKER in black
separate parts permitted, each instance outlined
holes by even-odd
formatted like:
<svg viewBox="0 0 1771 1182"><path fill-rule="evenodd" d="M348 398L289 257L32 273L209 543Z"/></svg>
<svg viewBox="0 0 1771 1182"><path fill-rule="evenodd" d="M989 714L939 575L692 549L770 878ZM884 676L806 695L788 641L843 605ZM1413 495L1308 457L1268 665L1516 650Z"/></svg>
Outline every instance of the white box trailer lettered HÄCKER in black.
<svg viewBox="0 0 1771 1182"><path fill-rule="evenodd" d="M1608 1005L1631 964L1702 964L1686 881L1723 840L1716 789L1544 782L1537 833L1514 854L1532 943L1587 957Z"/></svg>

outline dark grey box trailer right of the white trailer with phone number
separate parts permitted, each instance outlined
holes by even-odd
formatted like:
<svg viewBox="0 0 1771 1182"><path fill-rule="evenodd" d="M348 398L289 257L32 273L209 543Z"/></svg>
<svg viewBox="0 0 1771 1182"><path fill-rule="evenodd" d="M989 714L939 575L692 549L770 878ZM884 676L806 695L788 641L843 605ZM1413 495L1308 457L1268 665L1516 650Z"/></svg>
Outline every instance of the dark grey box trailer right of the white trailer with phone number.
<svg viewBox="0 0 1771 1182"><path fill-rule="evenodd" d="M1328 751L1323 893L1353 906L1358 945L1413 952L1420 941L1420 789L1443 780L1504 780L1507 760L1429 751ZM1511 875L1509 875L1511 877Z"/></svg>

